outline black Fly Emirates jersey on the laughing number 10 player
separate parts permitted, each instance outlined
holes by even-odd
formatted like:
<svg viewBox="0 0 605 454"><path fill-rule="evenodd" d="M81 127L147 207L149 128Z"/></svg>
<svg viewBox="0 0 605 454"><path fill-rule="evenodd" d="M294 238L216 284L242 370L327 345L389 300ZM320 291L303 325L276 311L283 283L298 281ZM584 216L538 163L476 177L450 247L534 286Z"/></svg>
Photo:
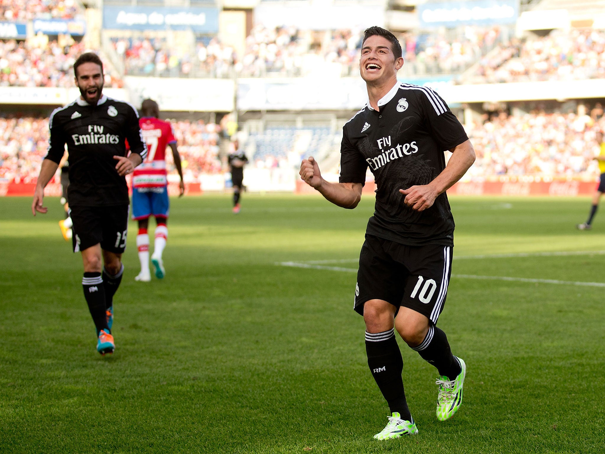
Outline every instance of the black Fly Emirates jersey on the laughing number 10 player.
<svg viewBox="0 0 605 454"><path fill-rule="evenodd" d="M427 185L445 169L443 151L468 140L441 97L428 87L396 85L378 102L369 101L343 128L341 183L376 182L374 215L367 233L410 246L452 246L454 218L445 194L431 208L414 211L399 189Z"/></svg>

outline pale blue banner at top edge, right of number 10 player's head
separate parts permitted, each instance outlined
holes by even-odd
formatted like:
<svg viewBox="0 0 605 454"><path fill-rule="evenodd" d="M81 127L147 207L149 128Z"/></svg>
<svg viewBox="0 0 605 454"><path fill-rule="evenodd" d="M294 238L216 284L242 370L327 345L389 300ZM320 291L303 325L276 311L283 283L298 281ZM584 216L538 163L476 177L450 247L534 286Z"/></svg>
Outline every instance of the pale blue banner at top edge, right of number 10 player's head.
<svg viewBox="0 0 605 454"><path fill-rule="evenodd" d="M519 16L518 0L453 1L418 5L420 27L514 24Z"/></svg>

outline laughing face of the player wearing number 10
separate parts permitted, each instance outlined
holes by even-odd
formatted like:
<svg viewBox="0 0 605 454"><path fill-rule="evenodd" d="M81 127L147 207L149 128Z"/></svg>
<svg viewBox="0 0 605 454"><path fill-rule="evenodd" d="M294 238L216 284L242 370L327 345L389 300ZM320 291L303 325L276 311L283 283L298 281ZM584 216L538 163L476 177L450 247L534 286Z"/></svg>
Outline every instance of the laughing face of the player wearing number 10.
<svg viewBox="0 0 605 454"><path fill-rule="evenodd" d="M361 48L359 72L368 83L397 79L397 70L404 65L403 58L395 58L391 42L383 36L373 35L366 39Z"/></svg>

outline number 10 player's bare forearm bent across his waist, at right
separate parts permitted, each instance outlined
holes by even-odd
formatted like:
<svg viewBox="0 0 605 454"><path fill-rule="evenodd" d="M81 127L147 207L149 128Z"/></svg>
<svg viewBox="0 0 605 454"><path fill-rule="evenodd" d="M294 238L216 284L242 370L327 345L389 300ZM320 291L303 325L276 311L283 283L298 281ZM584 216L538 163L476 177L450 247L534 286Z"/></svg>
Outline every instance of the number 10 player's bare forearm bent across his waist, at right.
<svg viewBox="0 0 605 454"><path fill-rule="evenodd" d="M475 150L470 140L460 143L450 150L453 154L442 173L428 185L411 186L408 189L399 189L405 196L405 205L416 211L431 208L435 199L447 191L466 173L475 162Z"/></svg>

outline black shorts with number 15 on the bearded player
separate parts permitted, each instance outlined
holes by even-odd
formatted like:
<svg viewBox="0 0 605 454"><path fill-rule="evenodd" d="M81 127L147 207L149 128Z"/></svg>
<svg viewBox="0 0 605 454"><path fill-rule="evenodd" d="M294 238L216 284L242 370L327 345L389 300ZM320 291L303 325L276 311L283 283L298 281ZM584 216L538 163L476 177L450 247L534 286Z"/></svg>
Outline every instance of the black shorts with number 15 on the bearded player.
<svg viewBox="0 0 605 454"><path fill-rule="evenodd" d="M126 249L129 205L70 206L74 252L97 243L105 251L122 254Z"/></svg>

